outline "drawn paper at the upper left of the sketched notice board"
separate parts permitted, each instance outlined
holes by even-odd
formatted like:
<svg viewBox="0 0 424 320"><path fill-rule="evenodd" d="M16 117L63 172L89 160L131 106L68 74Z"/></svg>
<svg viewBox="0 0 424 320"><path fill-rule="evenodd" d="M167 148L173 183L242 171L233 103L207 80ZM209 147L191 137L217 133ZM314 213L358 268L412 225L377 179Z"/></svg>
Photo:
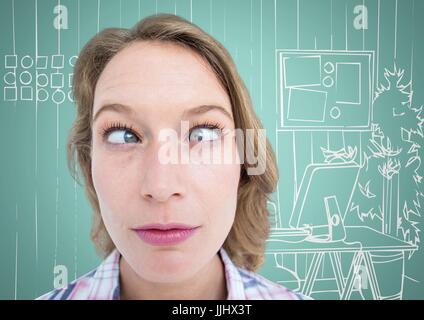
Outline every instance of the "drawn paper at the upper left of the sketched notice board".
<svg viewBox="0 0 424 320"><path fill-rule="evenodd" d="M321 83L321 57L288 57L284 58L285 86L308 87L319 86Z"/></svg>

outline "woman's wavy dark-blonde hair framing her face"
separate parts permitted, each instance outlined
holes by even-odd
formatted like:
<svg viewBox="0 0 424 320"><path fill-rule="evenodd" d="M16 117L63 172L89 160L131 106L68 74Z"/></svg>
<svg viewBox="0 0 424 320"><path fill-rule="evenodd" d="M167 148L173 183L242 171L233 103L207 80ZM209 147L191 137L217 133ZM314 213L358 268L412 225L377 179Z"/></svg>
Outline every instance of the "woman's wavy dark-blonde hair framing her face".
<svg viewBox="0 0 424 320"><path fill-rule="evenodd" d="M196 25L170 14L150 16L131 29L109 28L95 35L82 49L75 65L73 90L77 115L69 131L67 144L68 166L72 177L78 179L76 161L85 181L85 192L93 209L91 239L97 252L105 257L115 245L110 238L100 213L99 202L91 175L92 113L94 90L106 64L120 50L135 41L165 41L191 49L212 67L225 88L232 105L235 127L262 129L243 80L227 50ZM255 271L263 263L265 240L269 234L267 200L275 190L278 172L271 145L266 139L266 153L258 153L259 139L254 134L255 155L265 161L265 172L248 175L248 163L241 165L237 194L237 209L233 226L224 242L224 249L239 267ZM243 150L245 152L245 150ZM243 158L244 159L244 158ZM246 161L244 161L246 162Z"/></svg>

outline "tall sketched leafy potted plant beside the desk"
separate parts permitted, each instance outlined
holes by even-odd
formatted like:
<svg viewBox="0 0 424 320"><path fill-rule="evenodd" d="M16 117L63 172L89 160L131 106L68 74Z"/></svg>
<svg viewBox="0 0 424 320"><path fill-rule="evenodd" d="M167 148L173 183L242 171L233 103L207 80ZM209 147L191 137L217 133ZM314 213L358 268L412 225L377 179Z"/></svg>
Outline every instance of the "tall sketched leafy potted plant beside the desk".
<svg viewBox="0 0 424 320"><path fill-rule="evenodd" d="M412 96L411 81L405 84L404 70L396 65L391 71L385 69L384 83L378 86L373 100L372 127L363 149L350 218L356 216L360 224L418 245L418 219L424 197L421 173L424 118L422 106L412 106ZM379 261L376 273L377 278L382 277L380 284L387 284L388 277L392 279L382 296L400 298L403 259L393 259L392 252L383 252L375 259ZM393 270L401 277L393 275ZM400 288L393 284L396 278Z"/></svg>

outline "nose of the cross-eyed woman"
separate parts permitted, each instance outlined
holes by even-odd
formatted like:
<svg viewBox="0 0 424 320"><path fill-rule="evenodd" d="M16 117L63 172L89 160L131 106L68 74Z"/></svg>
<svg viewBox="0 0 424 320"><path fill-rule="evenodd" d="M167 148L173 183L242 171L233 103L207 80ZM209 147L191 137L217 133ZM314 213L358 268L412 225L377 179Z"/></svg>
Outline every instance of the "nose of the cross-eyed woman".
<svg viewBox="0 0 424 320"><path fill-rule="evenodd" d="M181 165L175 163L161 163L158 149L143 161L144 175L141 181L141 195L149 202L167 202L171 199L182 198L186 189L183 181Z"/></svg>

